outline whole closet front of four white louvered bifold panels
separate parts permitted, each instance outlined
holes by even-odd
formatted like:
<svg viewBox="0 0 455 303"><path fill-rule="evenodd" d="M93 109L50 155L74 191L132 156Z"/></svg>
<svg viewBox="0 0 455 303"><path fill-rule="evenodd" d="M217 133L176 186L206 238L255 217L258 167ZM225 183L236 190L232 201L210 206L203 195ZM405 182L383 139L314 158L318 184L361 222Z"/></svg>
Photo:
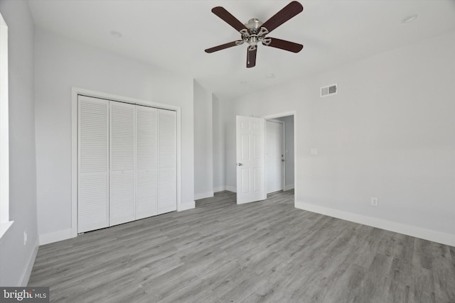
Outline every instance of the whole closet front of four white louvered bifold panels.
<svg viewBox="0 0 455 303"><path fill-rule="evenodd" d="M176 112L77 97L77 232L176 210Z"/></svg>

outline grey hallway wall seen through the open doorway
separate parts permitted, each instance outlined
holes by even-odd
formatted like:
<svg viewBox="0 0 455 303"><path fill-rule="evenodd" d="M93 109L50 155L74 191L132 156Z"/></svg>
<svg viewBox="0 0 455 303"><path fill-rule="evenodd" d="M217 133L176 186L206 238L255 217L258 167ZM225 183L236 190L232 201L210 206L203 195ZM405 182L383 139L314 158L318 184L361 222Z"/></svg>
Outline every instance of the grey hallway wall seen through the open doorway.
<svg viewBox="0 0 455 303"><path fill-rule="evenodd" d="M277 118L284 122L284 190L294 188L294 116Z"/></svg>

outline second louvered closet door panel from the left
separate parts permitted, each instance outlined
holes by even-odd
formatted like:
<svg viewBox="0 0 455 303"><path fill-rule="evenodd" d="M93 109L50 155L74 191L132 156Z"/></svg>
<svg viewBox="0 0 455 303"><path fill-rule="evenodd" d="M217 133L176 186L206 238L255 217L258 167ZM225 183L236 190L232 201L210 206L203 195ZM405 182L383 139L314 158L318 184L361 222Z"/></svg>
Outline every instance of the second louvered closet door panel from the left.
<svg viewBox="0 0 455 303"><path fill-rule="evenodd" d="M110 101L109 226L136 218L134 116L134 104Z"/></svg>

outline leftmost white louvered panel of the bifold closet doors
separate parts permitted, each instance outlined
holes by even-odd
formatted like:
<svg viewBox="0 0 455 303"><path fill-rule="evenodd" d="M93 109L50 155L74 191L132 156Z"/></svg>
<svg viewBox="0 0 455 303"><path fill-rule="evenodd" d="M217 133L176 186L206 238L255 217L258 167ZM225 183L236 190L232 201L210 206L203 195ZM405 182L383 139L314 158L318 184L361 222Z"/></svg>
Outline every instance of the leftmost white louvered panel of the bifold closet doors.
<svg viewBox="0 0 455 303"><path fill-rule="evenodd" d="M77 232L109 226L109 101L77 97Z"/></svg>

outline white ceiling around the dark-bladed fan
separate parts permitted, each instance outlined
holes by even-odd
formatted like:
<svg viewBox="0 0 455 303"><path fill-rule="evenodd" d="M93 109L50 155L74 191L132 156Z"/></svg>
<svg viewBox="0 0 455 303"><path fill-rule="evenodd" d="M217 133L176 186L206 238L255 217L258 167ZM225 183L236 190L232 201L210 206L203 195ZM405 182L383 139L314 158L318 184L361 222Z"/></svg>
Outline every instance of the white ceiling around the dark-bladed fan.
<svg viewBox="0 0 455 303"><path fill-rule="evenodd" d="M259 45L207 54L240 34L210 10L223 6L242 22L267 21L290 1L31 0L36 26L82 43L195 78L220 99L304 77L455 30L454 0L301 0L304 11L269 36L304 45L289 53ZM402 19L418 14L416 20ZM122 38L110 32L119 31ZM265 76L274 74L273 79ZM247 84L240 84L247 82Z"/></svg>

